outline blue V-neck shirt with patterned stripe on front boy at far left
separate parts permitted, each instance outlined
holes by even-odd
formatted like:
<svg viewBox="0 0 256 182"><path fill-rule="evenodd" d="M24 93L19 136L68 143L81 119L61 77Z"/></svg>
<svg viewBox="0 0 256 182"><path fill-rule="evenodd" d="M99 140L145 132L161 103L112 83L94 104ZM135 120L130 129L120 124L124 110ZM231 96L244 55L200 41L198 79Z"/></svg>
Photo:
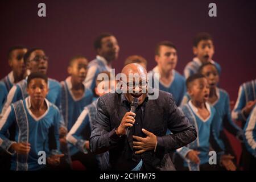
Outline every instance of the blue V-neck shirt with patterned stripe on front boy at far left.
<svg viewBox="0 0 256 182"><path fill-rule="evenodd" d="M47 111L36 117L30 110L30 97L19 100L8 107L0 120L0 147L11 154L11 170L38 170L46 167L38 163L39 151L46 155L59 154L59 109L45 99ZM15 125L15 139L6 137L7 130ZM16 154L10 146L13 143L30 143L28 155Z"/></svg>

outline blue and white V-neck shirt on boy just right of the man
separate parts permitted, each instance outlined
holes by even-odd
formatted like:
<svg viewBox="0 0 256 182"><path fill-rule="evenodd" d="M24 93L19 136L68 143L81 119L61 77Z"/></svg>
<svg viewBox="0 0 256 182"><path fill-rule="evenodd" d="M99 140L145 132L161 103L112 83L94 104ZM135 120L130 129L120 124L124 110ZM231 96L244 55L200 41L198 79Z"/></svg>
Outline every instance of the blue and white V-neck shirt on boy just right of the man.
<svg viewBox="0 0 256 182"><path fill-rule="evenodd" d="M192 104L191 101L188 104L185 104L181 107L181 110L189 121L195 126L197 131L197 138L192 143L189 143L187 146L177 149L178 154L184 159L184 166L188 167L189 170L199 170L199 165L191 162L186 158L186 155L191 150L197 150L200 152L200 165L208 163L209 161L209 151L210 151L210 139L213 141L214 150L218 151L219 154L222 154L223 143L218 139L217 131L214 130L214 123L218 123L219 117L216 114L214 107L210 106L208 103L205 103L207 110L210 115L207 119L201 118L198 114L198 109Z"/></svg>

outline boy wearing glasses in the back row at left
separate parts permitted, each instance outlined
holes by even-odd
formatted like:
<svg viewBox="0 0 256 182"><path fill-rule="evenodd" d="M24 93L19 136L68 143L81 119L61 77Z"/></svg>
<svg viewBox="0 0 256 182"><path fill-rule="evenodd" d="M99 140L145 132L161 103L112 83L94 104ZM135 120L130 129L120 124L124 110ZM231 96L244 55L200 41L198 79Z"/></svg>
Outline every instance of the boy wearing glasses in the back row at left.
<svg viewBox="0 0 256 182"><path fill-rule="evenodd" d="M30 69L31 73L40 72L46 75L48 68L48 57L44 53L43 49L33 48L30 49L24 55L24 63L27 65L27 69ZM55 104L57 107L60 107L60 96L61 96L61 86L60 83L51 78L48 79L48 88L49 92L46 96L47 100L52 104ZM18 100L23 100L28 96L27 93L27 78L18 82L11 88L5 105L3 106L2 113L3 115L6 109L14 102Z"/></svg>

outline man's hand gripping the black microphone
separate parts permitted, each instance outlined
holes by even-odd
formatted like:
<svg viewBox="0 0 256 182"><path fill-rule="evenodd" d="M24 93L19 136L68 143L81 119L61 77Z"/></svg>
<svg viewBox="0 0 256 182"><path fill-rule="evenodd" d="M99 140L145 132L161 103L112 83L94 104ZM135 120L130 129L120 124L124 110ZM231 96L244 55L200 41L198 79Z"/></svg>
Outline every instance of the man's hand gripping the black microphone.
<svg viewBox="0 0 256 182"><path fill-rule="evenodd" d="M133 116L132 116L133 115ZM120 125L117 128L117 135L125 135L126 127L132 127L135 122L135 113L127 112L122 118Z"/></svg>

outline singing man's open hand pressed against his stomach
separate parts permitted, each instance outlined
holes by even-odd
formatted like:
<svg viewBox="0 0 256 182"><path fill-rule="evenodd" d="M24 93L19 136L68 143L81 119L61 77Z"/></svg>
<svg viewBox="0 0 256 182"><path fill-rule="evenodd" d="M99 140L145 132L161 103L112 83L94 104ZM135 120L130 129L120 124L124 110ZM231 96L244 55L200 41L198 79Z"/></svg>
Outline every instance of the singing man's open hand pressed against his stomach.
<svg viewBox="0 0 256 182"><path fill-rule="evenodd" d="M138 140L138 142L133 142L133 148L140 149L139 151L135 152L135 154L142 154L148 150L154 150L157 142L156 135L145 129L142 129L142 132L147 135L146 138L133 135L133 138Z"/></svg>

